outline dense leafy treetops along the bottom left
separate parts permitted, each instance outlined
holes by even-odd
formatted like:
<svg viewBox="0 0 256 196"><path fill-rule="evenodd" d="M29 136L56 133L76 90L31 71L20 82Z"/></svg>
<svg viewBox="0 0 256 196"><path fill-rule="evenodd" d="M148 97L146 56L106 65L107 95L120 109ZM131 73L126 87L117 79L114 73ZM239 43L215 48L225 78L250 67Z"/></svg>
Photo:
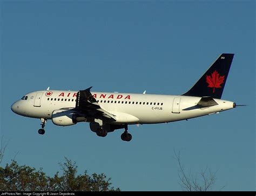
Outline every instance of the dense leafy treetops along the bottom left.
<svg viewBox="0 0 256 196"><path fill-rule="evenodd" d="M64 164L59 164L62 176L57 172L53 177L46 176L42 168L37 171L12 160L5 168L0 167L0 191L120 191L111 187L111 178L104 173L89 176L85 170L77 175L76 163L65 159Z"/></svg>

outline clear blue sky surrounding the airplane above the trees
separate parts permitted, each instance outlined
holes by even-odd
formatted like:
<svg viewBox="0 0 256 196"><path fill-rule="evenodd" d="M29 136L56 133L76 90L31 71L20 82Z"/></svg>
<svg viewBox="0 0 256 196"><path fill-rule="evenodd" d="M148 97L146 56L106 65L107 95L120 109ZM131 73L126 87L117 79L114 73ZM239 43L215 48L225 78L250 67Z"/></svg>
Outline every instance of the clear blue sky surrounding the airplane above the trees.
<svg viewBox="0 0 256 196"><path fill-rule="evenodd" d="M0 1L2 163L53 175L64 157L124 191L180 191L173 149L192 174L217 171L213 190L255 190L255 1ZM89 124L57 127L18 116L35 90L182 94L221 53L234 53L218 115L135 125L131 142ZM17 155L16 155L17 154ZM16 156L15 156L16 155Z"/></svg>

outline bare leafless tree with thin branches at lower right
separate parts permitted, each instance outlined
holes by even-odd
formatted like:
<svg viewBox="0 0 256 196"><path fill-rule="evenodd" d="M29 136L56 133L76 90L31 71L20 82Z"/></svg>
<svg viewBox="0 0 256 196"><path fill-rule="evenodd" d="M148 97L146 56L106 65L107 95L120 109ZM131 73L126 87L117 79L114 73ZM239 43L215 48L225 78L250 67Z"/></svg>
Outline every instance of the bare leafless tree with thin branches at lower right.
<svg viewBox="0 0 256 196"><path fill-rule="evenodd" d="M211 170L206 167L205 170L199 172L198 178L197 174L193 176L191 172L186 173L184 166L181 165L180 152L177 154L174 150L174 156L174 159L177 160L179 165L179 184L184 191L212 191L213 184L217 179L217 171L212 173ZM224 188L224 186L222 188Z"/></svg>

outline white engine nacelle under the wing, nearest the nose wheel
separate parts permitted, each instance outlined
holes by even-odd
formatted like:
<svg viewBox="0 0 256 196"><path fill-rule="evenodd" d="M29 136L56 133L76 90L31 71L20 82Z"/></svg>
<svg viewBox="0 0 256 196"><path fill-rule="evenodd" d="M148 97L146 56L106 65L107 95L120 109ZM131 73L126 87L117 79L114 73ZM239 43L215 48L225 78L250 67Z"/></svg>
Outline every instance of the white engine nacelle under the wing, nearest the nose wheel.
<svg viewBox="0 0 256 196"><path fill-rule="evenodd" d="M58 109L52 112L52 123L59 126L70 126L77 123L75 111Z"/></svg>

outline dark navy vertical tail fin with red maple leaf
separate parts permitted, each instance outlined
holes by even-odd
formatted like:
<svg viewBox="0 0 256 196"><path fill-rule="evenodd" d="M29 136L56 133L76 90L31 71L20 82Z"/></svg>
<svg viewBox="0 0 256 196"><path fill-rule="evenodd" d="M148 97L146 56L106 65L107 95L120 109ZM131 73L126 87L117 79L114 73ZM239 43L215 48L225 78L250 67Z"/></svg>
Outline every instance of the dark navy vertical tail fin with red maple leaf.
<svg viewBox="0 0 256 196"><path fill-rule="evenodd" d="M221 54L185 96L210 96L220 99L234 54Z"/></svg>

